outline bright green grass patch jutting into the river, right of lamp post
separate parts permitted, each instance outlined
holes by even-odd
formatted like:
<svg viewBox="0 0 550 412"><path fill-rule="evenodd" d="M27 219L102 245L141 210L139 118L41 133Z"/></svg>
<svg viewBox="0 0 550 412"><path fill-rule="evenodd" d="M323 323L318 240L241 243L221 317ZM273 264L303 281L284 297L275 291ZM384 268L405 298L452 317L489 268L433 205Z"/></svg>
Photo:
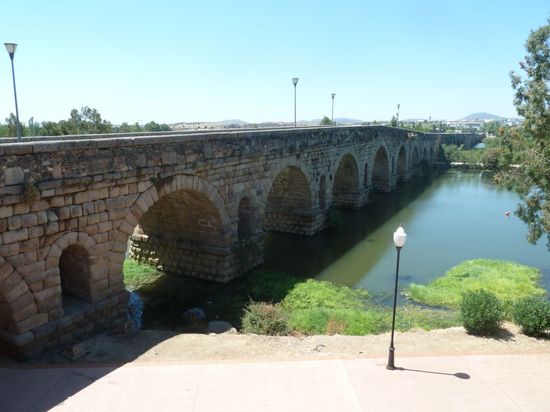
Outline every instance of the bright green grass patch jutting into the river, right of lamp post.
<svg viewBox="0 0 550 412"><path fill-rule="evenodd" d="M431 306L458 307L466 291L487 289L505 305L527 296L543 296L540 271L519 263L475 259L463 262L428 285L411 283L410 299Z"/></svg>

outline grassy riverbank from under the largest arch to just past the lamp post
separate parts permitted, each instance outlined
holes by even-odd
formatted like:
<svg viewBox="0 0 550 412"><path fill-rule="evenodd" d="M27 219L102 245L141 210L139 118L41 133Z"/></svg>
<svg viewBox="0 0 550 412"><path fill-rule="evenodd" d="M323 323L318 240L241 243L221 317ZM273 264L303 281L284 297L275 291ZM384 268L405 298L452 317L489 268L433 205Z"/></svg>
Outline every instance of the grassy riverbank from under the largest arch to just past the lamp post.
<svg viewBox="0 0 550 412"><path fill-rule="evenodd" d="M285 330L307 335L366 335L383 333L391 327L391 308L375 304L365 289L299 279L281 272L253 271L224 285L164 274L128 259L124 273L127 287L138 289L144 298L145 327L178 330L181 314L192 307L203 308L208 320L223 319L239 329L255 330L251 333L279 334ZM401 306L396 328L405 331L455 326L459 324L456 313Z"/></svg>

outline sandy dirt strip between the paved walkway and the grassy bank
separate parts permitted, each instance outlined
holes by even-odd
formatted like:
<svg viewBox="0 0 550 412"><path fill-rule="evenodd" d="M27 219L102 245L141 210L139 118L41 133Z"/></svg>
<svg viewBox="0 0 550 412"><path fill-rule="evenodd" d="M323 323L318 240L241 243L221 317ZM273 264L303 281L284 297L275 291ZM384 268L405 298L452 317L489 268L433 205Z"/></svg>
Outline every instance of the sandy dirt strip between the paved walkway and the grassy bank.
<svg viewBox="0 0 550 412"><path fill-rule="evenodd" d="M39 363L125 363L178 361L264 361L384 357L389 334L371 336L256 336L237 333L176 334L142 330L129 336L102 334L84 342L86 353L70 361L50 353ZM497 337L468 335L455 327L435 331L397 332L396 356L458 354L550 354L550 339L521 334L506 323Z"/></svg>

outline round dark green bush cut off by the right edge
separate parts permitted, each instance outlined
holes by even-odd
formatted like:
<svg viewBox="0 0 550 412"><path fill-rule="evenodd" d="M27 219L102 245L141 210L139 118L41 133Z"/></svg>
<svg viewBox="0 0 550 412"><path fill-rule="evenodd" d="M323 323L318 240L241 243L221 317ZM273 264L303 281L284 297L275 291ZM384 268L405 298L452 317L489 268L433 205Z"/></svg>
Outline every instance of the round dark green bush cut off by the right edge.
<svg viewBox="0 0 550 412"><path fill-rule="evenodd" d="M550 329L550 302L542 297L529 297L516 302L514 322L529 336L542 336Z"/></svg>

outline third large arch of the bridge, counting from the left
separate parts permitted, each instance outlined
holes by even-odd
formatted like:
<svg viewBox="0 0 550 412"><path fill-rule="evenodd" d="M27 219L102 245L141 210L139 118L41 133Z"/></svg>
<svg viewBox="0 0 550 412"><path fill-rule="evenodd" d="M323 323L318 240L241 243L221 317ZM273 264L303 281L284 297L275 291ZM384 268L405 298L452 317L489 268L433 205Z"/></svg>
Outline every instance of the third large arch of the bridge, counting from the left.
<svg viewBox="0 0 550 412"><path fill-rule="evenodd" d="M332 185L332 204L338 206L355 206L360 200L359 167L351 153L340 158Z"/></svg>

